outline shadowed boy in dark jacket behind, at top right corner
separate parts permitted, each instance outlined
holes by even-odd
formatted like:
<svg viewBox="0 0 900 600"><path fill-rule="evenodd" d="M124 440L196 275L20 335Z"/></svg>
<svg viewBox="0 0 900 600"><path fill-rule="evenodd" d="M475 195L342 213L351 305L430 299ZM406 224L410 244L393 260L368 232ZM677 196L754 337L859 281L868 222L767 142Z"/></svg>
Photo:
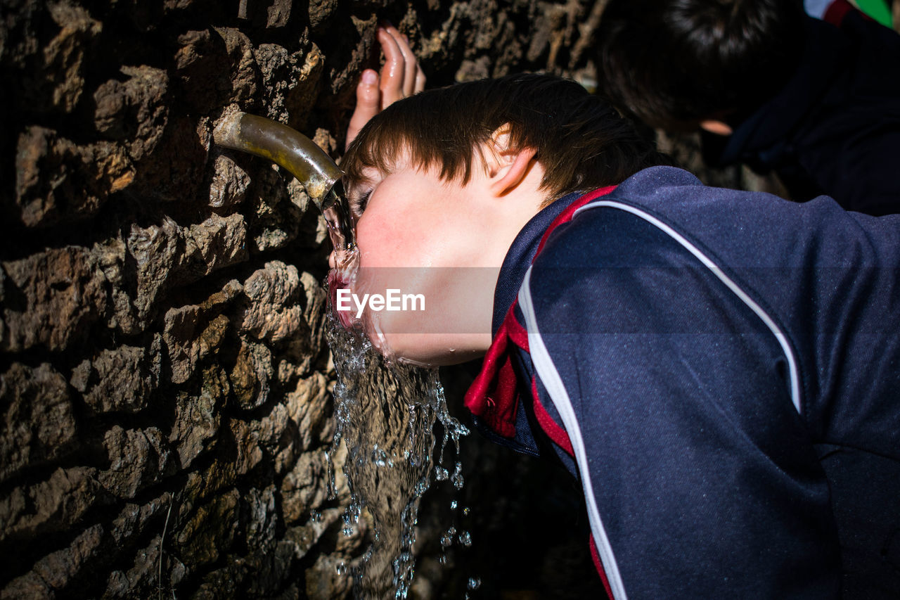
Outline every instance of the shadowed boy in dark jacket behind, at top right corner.
<svg viewBox="0 0 900 600"><path fill-rule="evenodd" d="M668 131L703 130L711 166L775 170L795 200L900 207L900 36L847 0L611 0L602 91Z"/></svg>

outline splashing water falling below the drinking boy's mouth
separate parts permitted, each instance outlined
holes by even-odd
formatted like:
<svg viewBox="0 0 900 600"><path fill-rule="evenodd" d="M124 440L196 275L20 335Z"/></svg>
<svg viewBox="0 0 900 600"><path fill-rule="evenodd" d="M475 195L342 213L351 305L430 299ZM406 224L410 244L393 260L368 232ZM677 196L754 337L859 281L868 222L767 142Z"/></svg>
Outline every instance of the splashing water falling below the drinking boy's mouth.
<svg viewBox="0 0 900 600"><path fill-rule="evenodd" d="M351 505L344 514L344 532L354 532L364 508L374 529L372 546L350 567L354 595L406 598L415 574L419 502L432 477L449 480L455 490L462 488L462 464L456 460L451 474L445 458L450 441L459 457L460 438L468 431L447 412L437 369L384 359L365 335L341 326L334 311L329 314L327 339L338 371L336 431L329 457L341 441L347 445L344 475ZM437 461L436 422L443 430ZM330 459L329 469L333 493ZM448 533L452 540L455 530ZM444 550L447 545L442 541Z"/></svg>

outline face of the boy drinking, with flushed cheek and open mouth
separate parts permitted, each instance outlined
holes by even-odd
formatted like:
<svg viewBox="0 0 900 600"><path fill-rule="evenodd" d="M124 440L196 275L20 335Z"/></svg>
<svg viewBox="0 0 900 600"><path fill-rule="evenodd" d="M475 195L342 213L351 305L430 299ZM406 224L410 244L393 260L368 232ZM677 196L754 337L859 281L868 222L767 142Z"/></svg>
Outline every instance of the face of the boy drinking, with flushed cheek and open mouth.
<svg viewBox="0 0 900 600"><path fill-rule="evenodd" d="M476 173L462 186L402 157L390 174L372 169L365 175L348 190L352 203L365 198L365 205L356 225L360 268L350 286L356 297L345 294L343 307L356 316L365 306L365 330L384 354L425 365L482 354L491 342L503 258L491 256L483 177ZM381 309L375 295L384 298Z"/></svg>

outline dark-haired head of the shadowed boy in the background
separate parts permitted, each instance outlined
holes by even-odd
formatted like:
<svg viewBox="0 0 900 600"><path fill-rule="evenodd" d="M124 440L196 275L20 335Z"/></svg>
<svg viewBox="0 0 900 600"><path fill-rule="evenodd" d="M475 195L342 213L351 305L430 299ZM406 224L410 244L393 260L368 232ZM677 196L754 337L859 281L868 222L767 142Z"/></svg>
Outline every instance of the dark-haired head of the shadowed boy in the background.
<svg viewBox="0 0 900 600"><path fill-rule="evenodd" d="M734 127L797 68L803 18L799 0L610 0L601 89L653 127Z"/></svg>

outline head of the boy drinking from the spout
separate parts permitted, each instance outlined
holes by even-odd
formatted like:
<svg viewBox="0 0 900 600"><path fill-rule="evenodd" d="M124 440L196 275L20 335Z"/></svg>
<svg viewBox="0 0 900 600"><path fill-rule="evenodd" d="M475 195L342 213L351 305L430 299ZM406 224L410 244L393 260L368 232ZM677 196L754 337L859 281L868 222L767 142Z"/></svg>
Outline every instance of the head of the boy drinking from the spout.
<svg viewBox="0 0 900 600"><path fill-rule="evenodd" d="M352 288L359 298L420 294L426 310L369 310L367 332L420 363L482 354L500 265L525 224L556 198L657 164L671 159L558 77L474 81L390 105L341 163L360 250Z"/></svg>

